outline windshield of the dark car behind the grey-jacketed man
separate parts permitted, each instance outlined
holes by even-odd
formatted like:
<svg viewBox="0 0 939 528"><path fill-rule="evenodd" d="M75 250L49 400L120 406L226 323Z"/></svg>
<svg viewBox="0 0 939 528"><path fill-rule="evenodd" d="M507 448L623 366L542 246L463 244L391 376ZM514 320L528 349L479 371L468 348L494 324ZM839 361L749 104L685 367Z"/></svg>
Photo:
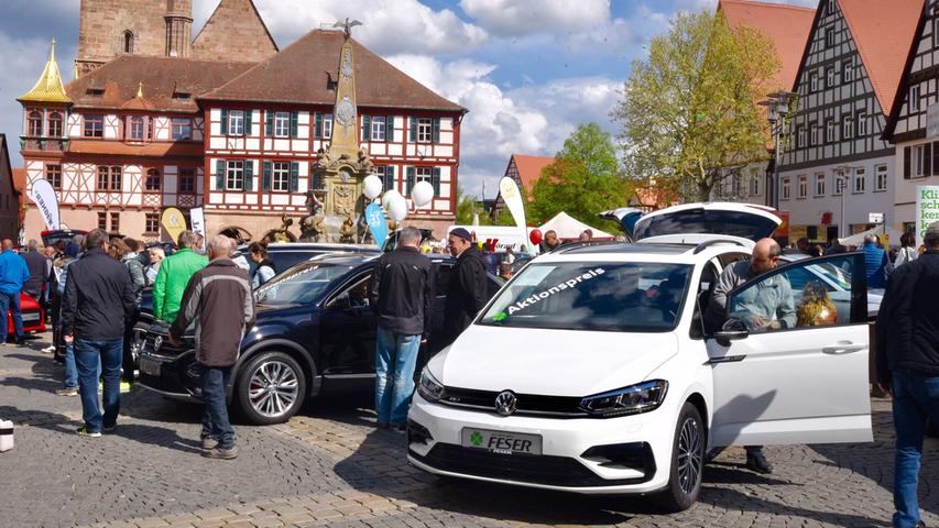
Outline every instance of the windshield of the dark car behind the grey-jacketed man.
<svg viewBox="0 0 939 528"><path fill-rule="evenodd" d="M258 288L254 295L258 302L266 305L315 302L334 280L350 270L350 265L321 262L298 264Z"/></svg>

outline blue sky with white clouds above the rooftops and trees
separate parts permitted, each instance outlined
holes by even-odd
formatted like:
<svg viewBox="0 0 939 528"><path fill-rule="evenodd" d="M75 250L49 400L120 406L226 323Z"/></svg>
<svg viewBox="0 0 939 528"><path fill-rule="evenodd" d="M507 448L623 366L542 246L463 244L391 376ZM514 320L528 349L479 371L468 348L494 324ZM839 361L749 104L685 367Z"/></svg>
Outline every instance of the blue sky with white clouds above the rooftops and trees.
<svg viewBox="0 0 939 528"><path fill-rule="evenodd" d="M155 0L154 0L155 1ZM815 6L815 0L778 0ZM79 0L4 0L0 18L0 132L20 134L15 98L39 77L48 41L72 77ZM194 0L194 29L218 0ZM578 124L608 114L630 63L679 10L717 0L255 0L283 48L349 16L354 36L417 80L470 110L462 124L461 186L495 194L512 153L553 155ZM11 141L14 165L21 165Z"/></svg>

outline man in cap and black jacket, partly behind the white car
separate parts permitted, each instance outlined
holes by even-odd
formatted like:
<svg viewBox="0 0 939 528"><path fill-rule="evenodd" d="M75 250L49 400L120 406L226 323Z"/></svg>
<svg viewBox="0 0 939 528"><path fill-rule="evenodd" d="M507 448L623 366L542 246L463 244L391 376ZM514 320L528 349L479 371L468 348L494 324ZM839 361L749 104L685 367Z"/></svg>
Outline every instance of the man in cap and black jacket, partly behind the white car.
<svg viewBox="0 0 939 528"><path fill-rule="evenodd" d="M441 346L447 346L470 326L479 310L489 300L485 260L472 243L472 235L463 228L450 231L447 249L457 257L447 284L447 302L444 307Z"/></svg>

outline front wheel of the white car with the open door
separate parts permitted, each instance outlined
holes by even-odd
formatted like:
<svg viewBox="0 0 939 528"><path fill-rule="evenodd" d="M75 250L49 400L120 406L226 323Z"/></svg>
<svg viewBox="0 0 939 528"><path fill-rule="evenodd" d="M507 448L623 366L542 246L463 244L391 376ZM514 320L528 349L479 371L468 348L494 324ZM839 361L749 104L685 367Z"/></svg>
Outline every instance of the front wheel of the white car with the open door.
<svg viewBox="0 0 939 528"><path fill-rule="evenodd" d="M701 414L691 403L686 402L675 428L668 485L656 497L658 506L664 512L683 512L698 501L698 494L701 492L706 443Z"/></svg>

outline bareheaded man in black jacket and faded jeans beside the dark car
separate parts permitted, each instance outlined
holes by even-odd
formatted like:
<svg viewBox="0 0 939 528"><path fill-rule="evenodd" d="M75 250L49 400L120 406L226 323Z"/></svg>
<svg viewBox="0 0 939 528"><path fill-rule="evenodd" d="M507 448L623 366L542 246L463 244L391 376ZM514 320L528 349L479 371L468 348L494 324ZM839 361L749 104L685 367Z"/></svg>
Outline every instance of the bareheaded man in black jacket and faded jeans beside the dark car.
<svg viewBox="0 0 939 528"><path fill-rule="evenodd" d="M421 254L421 231L401 230L397 248L375 265L369 298L378 320L375 411L379 427L404 430L414 365L430 331L434 268Z"/></svg>

